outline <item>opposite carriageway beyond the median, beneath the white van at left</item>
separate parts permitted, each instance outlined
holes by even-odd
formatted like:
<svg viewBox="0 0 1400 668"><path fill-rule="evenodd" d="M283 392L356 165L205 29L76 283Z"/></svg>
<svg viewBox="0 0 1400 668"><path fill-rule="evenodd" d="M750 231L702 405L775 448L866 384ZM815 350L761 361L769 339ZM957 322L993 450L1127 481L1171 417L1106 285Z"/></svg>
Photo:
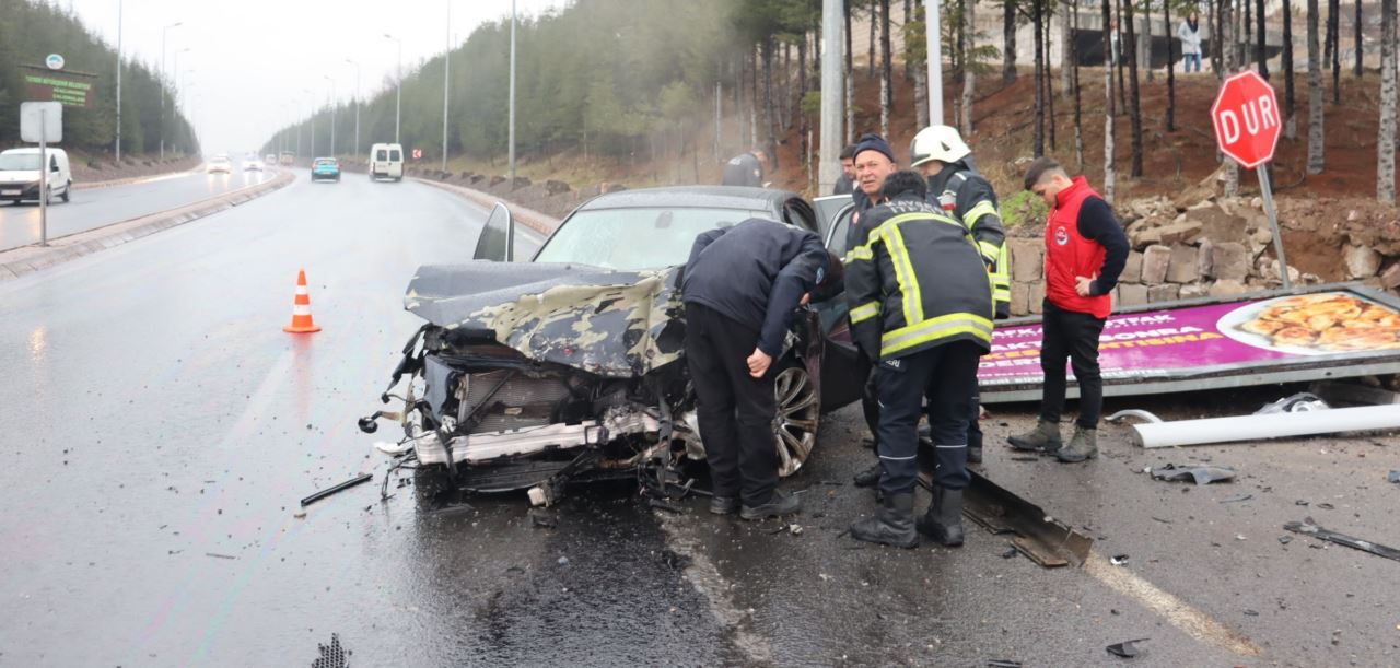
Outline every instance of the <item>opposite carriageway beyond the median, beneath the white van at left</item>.
<svg viewBox="0 0 1400 668"><path fill-rule="evenodd" d="M71 202L49 206L49 238L94 230L150 213L193 204L276 175L266 172L204 174L203 168L154 176L137 183L73 190ZM39 242L39 203L0 203L0 251Z"/></svg>

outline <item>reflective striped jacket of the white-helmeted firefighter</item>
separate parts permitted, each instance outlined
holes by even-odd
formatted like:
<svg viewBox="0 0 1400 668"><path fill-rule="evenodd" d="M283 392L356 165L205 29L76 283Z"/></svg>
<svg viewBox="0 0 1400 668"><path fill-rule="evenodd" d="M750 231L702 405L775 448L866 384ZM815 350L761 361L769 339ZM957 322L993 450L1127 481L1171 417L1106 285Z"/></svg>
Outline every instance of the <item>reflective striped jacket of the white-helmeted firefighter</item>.
<svg viewBox="0 0 1400 668"><path fill-rule="evenodd" d="M991 298L997 318L1009 318L1011 256L1007 252L1007 231L1001 223L997 190L991 188L991 182L956 162L930 179L928 200L967 225L991 273Z"/></svg>

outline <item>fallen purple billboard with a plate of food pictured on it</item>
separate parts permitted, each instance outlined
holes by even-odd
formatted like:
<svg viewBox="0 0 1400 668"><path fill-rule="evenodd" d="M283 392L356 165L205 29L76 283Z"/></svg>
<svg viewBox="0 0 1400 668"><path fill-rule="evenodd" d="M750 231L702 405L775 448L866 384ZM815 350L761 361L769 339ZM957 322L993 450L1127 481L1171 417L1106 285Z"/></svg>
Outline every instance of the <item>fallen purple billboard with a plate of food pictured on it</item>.
<svg viewBox="0 0 1400 668"><path fill-rule="evenodd" d="M983 402L1040 398L1040 342L1039 318L997 328ZM1103 326L1099 366L1109 396L1400 373L1400 298L1341 284L1124 309Z"/></svg>

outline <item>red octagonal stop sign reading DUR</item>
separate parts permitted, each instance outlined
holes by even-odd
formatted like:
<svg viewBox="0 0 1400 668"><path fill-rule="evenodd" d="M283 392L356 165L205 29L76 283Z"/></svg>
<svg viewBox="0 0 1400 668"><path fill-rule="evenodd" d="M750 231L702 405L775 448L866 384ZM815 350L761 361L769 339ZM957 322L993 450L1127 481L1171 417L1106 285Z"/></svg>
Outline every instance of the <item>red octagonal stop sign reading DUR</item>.
<svg viewBox="0 0 1400 668"><path fill-rule="evenodd" d="M1282 123L1274 87L1259 73L1246 70L1225 80L1211 105L1215 141L1221 153L1240 167L1253 168L1274 160L1274 146Z"/></svg>

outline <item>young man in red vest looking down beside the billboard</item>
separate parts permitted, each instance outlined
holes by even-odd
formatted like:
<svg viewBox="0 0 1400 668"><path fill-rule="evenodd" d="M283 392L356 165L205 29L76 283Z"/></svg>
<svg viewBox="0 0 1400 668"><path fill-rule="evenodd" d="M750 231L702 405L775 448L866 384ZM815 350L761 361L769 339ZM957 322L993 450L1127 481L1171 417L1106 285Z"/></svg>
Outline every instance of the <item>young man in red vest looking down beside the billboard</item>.
<svg viewBox="0 0 1400 668"><path fill-rule="evenodd" d="M1109 203L1084 176L1071 179L1054 160L1042 157L1032 162L1025 186L1050 206L1040 347L1044 395L1036 429L1012 436L1011 447L1054 454L1061 462L1082 462L1099 457L1098 427L1103 409L1099 335L1113 311L1113 286L1127 263L1128 239ZM1079 382L1079 420L1068 445L1060 440L1065 359Z"/></svg>

